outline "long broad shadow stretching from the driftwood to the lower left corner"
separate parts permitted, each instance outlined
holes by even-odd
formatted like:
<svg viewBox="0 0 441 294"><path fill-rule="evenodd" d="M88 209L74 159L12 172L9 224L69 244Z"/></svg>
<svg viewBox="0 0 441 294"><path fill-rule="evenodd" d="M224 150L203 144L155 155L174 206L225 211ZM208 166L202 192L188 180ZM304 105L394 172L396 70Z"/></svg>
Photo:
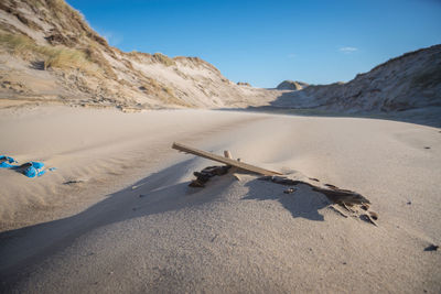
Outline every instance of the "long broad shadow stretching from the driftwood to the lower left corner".
<svg viewBox="0 0 441 294"><path fill-rule="evenodd" d="M189 171L190 162L181 162L152 174L72 217L1 232L0 292L11 290L32 271L34 264L40 264L96 228L213 200L216 195L207 197L205 192L192 192L187 182L180 183L182 175Z"/></svg>

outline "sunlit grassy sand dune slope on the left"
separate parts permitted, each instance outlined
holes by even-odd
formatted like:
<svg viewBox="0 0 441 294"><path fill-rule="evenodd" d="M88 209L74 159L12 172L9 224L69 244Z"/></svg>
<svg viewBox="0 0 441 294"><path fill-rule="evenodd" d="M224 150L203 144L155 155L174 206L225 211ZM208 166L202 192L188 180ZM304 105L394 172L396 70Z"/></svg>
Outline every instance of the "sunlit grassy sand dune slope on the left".
<svg viewBox="0 0 441 294"><path fill-rule="evenodd" d="M277 91L238 86L198 57L121 52L64 0L0 3L0 108L246 107L276 96Z"/></svg>

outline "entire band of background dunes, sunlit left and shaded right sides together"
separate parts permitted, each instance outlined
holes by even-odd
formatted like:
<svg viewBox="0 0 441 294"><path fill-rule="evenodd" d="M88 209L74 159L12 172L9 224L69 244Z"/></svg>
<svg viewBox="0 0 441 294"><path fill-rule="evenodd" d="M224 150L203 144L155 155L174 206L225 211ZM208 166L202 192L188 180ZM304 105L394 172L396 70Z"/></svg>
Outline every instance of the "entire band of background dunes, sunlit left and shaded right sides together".
<svg viewBox="0 0 441 294"><path fill-rule="evenodd" d="M233 83L198 57L125 53L63 0L0 3L0 107L23 104L157 108L277 107L397 112L441 107L441 45L407 53L348 83Z"/></svg>

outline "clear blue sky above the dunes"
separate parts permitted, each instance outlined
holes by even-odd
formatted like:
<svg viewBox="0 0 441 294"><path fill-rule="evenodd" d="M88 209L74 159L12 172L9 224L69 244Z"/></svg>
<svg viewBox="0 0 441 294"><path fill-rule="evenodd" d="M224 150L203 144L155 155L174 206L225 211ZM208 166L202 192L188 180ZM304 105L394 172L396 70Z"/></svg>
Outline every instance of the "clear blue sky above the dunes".
<svg viewBox="0 0 441 294"><path fill-rule="evenodd" d="M67 0L122 51L200 56L234 81L347 81L441 43L441 0Z"/></svg>

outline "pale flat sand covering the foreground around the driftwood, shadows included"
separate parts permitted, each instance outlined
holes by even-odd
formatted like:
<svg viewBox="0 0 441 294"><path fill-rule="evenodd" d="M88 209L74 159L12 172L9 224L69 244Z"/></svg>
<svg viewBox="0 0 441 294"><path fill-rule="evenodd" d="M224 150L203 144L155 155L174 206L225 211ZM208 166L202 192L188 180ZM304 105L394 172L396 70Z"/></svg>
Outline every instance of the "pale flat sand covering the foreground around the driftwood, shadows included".
<svg viewBox="0 0 441 294"><path fill-rule="evenodd" d="M34 179L0 170L2 292L441 291L440 251L424 251L441 243L440 129L46 107L0 110L0 135L1 153L58 168ZM306 186L283 194L252 175L192 189L192 173L213 162L173 141L356 190L378 227Z"/></svg>

